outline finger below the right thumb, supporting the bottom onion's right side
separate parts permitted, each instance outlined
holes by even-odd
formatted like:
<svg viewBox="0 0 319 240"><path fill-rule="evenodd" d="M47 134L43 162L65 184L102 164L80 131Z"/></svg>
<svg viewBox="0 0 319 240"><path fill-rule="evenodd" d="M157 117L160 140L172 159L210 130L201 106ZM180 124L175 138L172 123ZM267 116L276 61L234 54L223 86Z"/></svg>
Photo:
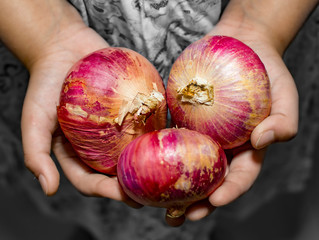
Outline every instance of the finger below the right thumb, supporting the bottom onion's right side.
<svg viewBox="0 0 319 240"><path fill-rule="evenodd" d="M247 192L260 172L264 155L265 149L250 149L237 154L224 182L209 197L209 202L215 207L224 206Z"/></svg>

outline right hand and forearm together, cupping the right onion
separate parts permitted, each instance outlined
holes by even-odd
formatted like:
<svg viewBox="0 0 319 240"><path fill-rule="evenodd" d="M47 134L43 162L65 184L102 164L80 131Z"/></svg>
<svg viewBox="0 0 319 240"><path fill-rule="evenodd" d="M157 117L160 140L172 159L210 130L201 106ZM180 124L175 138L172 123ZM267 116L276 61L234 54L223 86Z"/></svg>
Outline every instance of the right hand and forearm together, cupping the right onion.
<svg viewBox="0 0 319 240"><path fill-rule="evenodd" d="M208 33L237 38L259 55L271 82L272 108L252 132L250 144L232 151L224 183L207 201L189 207L188 219L199 220L247 192L260 173L266 147L297 134L298 92L282 56L317 4L318 0L232 0ZM179 220L171 221L176 224Z"/></svg>

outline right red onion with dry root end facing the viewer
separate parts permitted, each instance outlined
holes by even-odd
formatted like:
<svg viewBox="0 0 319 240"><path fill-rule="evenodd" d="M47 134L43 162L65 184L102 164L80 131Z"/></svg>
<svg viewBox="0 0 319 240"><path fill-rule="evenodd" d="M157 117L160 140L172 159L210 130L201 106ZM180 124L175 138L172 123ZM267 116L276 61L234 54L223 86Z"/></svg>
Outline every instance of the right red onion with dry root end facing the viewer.
<svg viewBox="0 0 319 240"><path fill-rule="evenodd" d="M207 134L224 149L248 141L271 109L264 64L251 48L227 36L189 45L172 66L166 95L174 124Z"/></svg>

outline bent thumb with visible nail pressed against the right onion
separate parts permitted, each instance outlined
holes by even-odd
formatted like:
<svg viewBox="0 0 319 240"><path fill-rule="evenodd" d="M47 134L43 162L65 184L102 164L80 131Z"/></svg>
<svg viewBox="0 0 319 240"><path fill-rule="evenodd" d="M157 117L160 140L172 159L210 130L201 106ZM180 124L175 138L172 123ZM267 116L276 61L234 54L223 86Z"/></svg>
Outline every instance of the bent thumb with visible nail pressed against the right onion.
<svg viewBox="0 0 319 240"><path fill-rule="evenodd" d="M273 81L270 116L261 122L251 135L251 143L256 149L264 148L273 142L288 141L298 131L298 92L287 68L278 67L283 70Z"/></svg>

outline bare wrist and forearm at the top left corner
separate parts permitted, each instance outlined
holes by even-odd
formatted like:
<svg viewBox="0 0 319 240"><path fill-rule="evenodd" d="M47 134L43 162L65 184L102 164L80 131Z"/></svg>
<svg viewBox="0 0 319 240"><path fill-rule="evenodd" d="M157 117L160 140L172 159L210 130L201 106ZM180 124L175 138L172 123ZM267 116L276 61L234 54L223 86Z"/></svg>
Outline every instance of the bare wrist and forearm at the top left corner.
<svg viewBox="0 0 319 240"><path fill-rule="evenodd" d="M84 25L65 0L9 1L0 3L0 38L30 70L74 26ZM85 26L85 25L84 25Z"/></svg>

